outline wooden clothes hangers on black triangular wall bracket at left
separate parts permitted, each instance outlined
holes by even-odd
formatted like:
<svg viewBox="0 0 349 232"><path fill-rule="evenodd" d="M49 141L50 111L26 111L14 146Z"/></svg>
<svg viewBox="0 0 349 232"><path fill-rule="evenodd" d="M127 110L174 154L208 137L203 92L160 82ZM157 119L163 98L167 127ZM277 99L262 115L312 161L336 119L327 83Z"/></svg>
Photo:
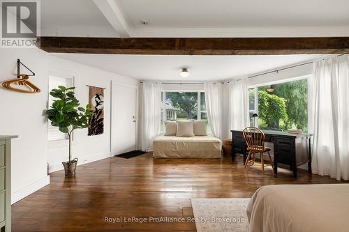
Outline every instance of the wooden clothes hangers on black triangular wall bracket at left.
<svg viewBox="0 0 349 232"><path fill-rule="evenodd" d="M20 74L20 65L23 65L27 70L31 72L31 75ZM31 71L26 65L24 65L20 59L17 59L17 79L10 79L7 82L3 82L3 88L7 88L12 91L20 93L40 93L40 88L36 87L33 83L29 82L29 76L35 76L35 73ZM14 88L11 84L17 84L20 86L26 86L28 89Z"/></svg>

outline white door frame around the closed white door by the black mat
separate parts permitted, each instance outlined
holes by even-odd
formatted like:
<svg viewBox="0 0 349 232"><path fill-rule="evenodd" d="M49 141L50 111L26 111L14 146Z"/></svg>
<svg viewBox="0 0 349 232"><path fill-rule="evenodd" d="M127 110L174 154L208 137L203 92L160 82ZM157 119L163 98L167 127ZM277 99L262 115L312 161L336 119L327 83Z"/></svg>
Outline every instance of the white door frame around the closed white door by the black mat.
<svg viewBox="0 0 349 232"><path fill-rule="evenodd" d="M114 130L113 129L113 115L115 114L114 112L114 107L113 107L113 99L114 99L114 89L115 86L123 86L123 87L128 87L128 88L134 88L135 89L135 120L136 120L136 125L135 125L135 150L138 150L138 132L139 132L139 121L138 121L138 111L139 111L139 86L138 85L133 85L133 84L124 84L122 82L117 82L117 81L112 81L111 84L111 90L110 90L110 156L113 156L113 150L112 150L112 143L113 139L115 137Z"/></svg>

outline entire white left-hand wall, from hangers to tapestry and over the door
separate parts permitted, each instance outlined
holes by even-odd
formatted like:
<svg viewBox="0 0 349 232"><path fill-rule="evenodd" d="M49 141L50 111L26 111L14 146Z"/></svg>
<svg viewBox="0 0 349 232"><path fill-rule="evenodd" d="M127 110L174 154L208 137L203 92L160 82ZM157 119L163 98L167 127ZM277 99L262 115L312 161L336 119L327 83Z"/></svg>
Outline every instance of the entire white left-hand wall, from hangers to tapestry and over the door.
<svg viewBox="0 0 349 232"><path fill-rule="evenodd" d="M86 105L86 84L105 87L105 134L87 137L87 129L75 132L73 156L80 164L110 156L110 86L111 81L138 85L136 79L57 59L40 49L1 49L0 82L15 78L17 59L36 73L31 81L40 88L40 93L17 93L0 88L1 114L0 134L17 134L12 149L12 201L35 192L50 183L47 162L52 170L62 169L61 162L68 157L65 143L48 143L47 109L48 80L50 72L76 77L77 98Z"/></svg>

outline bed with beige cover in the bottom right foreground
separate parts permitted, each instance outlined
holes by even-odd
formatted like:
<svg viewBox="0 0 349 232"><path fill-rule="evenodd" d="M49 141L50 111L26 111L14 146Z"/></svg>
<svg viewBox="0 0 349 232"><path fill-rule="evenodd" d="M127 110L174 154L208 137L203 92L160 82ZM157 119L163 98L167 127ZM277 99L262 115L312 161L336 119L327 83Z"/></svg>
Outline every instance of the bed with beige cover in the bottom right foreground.
<svg viewBox="0 0 349 232"><path fill-rule="evenodd" d="M349 231L349 184L260 187L247 217L250 232Z"/></svg>

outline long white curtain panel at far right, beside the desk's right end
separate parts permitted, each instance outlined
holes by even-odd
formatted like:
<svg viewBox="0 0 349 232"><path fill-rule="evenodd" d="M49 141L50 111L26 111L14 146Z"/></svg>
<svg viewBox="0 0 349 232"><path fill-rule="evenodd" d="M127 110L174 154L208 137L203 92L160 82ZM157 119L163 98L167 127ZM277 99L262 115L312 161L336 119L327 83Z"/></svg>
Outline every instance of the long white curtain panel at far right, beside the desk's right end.
<svg viewBox="0 0 349 232"><path fill-rule="evenodd" d="M314 64L309 82L313 173L349 180L349 56Z"/></svg>

